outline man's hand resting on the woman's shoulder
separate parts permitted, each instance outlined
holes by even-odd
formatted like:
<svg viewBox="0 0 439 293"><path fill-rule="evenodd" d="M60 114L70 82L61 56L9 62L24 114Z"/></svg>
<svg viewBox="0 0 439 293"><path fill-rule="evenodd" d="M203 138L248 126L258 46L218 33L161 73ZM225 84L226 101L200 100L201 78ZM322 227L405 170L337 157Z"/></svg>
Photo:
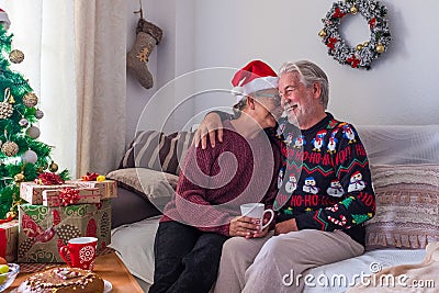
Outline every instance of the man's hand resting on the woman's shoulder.
<svg viewBox="0 0 439 293"><path fill-rule="evenodd" d="M211 146L214 148L216 142L215 134L217 134L218 142L223 143L223 122L221 121L218 114L212 112L205 115L204 120L201 122L195 132L195 135L193 136L192 143L195 144L195 147L199 147L201 142L201 148L205 149L209 135Z"/></svg>

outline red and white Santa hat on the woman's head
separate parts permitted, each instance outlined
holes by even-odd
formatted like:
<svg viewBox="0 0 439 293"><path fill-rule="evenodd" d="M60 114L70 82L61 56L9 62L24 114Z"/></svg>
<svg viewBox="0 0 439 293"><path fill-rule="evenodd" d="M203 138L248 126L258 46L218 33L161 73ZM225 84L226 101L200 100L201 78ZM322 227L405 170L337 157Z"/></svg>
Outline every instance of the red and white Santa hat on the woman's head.
<svg viewBox="0 0 439 293"><path fill-rule="evenodd" d="M261 60L252 60L235 74L232 93L240 101L249 93L278 88L278 75L270 66Z"/></svg>

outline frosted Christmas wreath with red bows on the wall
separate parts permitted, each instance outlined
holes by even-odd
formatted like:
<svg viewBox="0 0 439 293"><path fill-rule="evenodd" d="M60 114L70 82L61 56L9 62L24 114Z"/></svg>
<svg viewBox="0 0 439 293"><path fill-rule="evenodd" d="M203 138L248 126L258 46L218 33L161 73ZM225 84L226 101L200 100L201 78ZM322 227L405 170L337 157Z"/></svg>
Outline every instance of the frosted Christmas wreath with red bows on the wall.
<svg viewBox="0 0 439 293"><path fill-rule="evenodd" d="M348 14L360 14L368 21L371 31L369 41L350 47L340 36L338 26ZM387 49L391 43L391 33L385 15L387 9L379 1L346 0L338 1L323 19L324 27L318 33L323 43L328 47L328 54L340 64L352 68L370 69L371 63Z"/></svg>

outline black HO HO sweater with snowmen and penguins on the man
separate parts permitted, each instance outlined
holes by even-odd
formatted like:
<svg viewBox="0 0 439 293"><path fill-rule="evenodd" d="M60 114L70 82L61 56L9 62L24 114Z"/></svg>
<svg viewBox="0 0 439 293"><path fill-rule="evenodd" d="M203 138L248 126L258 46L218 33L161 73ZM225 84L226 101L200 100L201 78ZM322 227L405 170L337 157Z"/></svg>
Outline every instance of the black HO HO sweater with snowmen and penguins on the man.
<svg viewBox="0 0 439 293"><path fill-rule="evenodd" d="M282 120L272 135L283 155L277 222L295 218L299 229L341 229L364 245L363 223L375 213L375 195L356 128L327 113L302 131Z"/></svg>

